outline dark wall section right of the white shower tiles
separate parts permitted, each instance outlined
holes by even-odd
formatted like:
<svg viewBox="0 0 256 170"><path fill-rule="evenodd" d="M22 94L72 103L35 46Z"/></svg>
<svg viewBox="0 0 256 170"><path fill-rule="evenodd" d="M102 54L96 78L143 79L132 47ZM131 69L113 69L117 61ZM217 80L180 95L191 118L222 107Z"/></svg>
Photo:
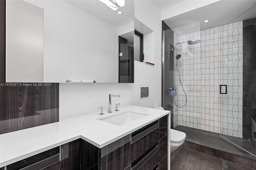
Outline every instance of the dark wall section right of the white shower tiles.
<svg viewBox="0 0 256 170"><path fill-rule="evenodd" d="M243 138L250 137L250 117L256 121L256 18L243 21Z"/></svg>

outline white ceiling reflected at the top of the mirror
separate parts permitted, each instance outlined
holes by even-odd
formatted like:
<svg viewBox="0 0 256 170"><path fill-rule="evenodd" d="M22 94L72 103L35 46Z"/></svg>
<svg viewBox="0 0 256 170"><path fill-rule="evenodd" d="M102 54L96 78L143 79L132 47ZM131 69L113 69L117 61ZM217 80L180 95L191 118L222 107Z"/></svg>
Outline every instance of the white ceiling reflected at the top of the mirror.
<svg viewBox="0 0 256 170"><path fill-rule="evenodd" d="M126 0L123 7L114 11L99 0L64 0L81 10L100 18L117 28L134 22L134 1ZM117 14L122 11L122 14Z"/></svg>

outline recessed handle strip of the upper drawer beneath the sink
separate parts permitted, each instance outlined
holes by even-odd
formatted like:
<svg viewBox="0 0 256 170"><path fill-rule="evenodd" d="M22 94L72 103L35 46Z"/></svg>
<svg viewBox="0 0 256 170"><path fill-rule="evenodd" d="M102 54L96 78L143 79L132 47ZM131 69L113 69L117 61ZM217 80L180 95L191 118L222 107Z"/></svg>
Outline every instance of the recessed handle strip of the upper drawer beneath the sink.
<svg viewBox="0 0 256 170"><path fill-rule="evenodd" d="M132 132L131 133L131 144L133 144L140 138L146 136L147 134L149 134L153 130L157 129L158 127L159 127L159 121L157 120L157 121L150 123L149 125L146 125L146 127L144 127L144 129L142 129L142 131L138 132L138 130L137 130L135 132Z"/></svg>

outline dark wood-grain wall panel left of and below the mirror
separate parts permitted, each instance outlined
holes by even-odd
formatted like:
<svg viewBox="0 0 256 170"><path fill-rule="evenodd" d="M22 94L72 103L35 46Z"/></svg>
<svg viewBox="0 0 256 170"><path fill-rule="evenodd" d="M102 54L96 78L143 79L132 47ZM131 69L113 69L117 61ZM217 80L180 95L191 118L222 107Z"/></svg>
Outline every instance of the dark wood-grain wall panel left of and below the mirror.
<svg viewBox="0 0 256 170"><path fill-rule="evenodd" d="M0 0L0 134L59 121L59 84L5 83L5 0Z"/></svg>

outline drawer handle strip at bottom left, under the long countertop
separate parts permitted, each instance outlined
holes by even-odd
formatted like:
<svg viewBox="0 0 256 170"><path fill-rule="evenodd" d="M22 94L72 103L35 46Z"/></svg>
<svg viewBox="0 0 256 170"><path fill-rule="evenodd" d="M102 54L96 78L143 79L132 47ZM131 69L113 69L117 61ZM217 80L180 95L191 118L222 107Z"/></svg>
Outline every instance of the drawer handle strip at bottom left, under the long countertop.
<svg viewBox="0 0 256 170"><path fill-rule="evenodd" d="M36 162L32 165L26 166L25 168L22 168L20 170L40 170L42 168L46 168L47 166L50 166L52 164L55 164L60 161L60 154L56 154L54 156L51 156L49 158L46 158L44 160L41 160L39 162Z"/></svg>

